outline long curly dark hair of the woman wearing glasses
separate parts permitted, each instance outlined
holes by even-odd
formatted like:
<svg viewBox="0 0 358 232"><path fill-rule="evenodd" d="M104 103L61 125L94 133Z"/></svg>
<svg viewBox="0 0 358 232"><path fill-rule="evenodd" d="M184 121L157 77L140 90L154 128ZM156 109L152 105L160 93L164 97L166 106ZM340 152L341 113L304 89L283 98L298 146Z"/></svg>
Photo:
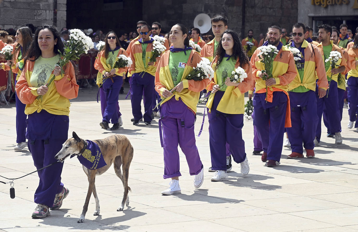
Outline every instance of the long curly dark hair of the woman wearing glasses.
<svg viewBox="0 0 358 232"><path fill-rule="evenodd" d="M248 64L249 59L248 59L248 56L247 56L245 50L242 47L239 34L237 34L237 32L235 32L234 30L227 29L221 35L220 39L223 38L224 34L231 34L231 36L234 40L234 47L232 48L232 56L231 56L232 61L236 62L237 58L239 58L240 66L242 66L243 64ZM219 43L218 49L217 49L215 55L218 56L218 61L216 63L216 67L215 67L215 69L217 69L217 67L219 66L219 64L221 63L221 61L223 60L223 57L225 55L225 50L221 43Z"/></svg>

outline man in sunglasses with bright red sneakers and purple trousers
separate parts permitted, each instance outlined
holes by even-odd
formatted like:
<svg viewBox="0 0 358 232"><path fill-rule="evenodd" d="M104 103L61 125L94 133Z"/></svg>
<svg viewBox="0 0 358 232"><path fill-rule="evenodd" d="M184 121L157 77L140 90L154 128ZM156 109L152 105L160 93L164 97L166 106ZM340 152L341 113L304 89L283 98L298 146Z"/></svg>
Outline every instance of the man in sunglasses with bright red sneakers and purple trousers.
<svg viewBox="0 0 358 232"><path fill-rule="evenodd" d="M321 53L316 45L305 40L308 33L309 31L306 31L304 24L296 23L293 25L293 42L289 46L300 50L301 60L296 64L297 76L289 84L291 127L287 127L286 130L290 138L292 153L287 156L287 159L304 158L303 148L306 150L307 158L315 157L313 140L318 124L315 93L316 74L318 77L318 97L324 97L328 89Z"/></svg>

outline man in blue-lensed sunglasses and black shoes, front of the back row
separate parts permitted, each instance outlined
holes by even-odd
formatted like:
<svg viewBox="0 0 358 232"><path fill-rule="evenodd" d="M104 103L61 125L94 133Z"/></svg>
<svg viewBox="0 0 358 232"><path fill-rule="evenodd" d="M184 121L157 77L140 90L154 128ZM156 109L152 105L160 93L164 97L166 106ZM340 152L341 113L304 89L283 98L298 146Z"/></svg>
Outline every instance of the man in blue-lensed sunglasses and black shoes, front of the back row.
<svg viewBox="0 0 358 232"><path fill-rule="evenodd" d="M154 75L158 62L149 62L154 39L150 37L151 28L148 24L140 27L140 38L133 43L130 50L130 57L133 64L128 72L131 75L131 103L134 116L133 125L138 125L144 119L146 126L151 125L153 96L154 96ZM158 58L159 61L159 58ZM147 67L148 66L148 67ZM146 68L147 67L147 68ZM141 112L142 95L144 94L144 115Z"/></svg>

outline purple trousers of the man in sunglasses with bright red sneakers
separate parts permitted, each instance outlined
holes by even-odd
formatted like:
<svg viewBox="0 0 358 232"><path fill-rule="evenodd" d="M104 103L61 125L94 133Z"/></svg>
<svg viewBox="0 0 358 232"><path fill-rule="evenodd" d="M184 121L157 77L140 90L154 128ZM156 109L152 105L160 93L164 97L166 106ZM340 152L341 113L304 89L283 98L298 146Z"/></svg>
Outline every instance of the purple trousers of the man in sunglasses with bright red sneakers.
<svg viewBox="0 0 358 232"><path fill-rule="evenodd" d="M303 154L303 147L314 148L314 137L318 123L317 100L315 92L290 92L291 125L287 127L292 152ZM303 147L302 147L303 142Z"/></svg>

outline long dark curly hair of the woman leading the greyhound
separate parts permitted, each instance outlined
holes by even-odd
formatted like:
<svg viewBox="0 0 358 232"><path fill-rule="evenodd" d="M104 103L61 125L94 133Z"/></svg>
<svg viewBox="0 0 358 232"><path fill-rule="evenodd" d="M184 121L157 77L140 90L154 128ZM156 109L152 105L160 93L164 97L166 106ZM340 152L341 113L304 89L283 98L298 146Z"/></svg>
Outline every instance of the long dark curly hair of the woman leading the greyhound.
<svg viewBox="0 0 358 232"><path fill-rule="evenodd" d="M39 43L38 43L37 39L39 37L40 30L43 30L43 29L49 29L53 34L53 39L57 39L57 43L55 44L55 46L53 48L53 52L56 54L59 54L59 52L58 52L58 50L59 50L63 54L64 44L61 40L61 35L58 32L57 28L54 25L42 24L35 31L35 35L32 39L32 42L30 43L30 46L27 50L27 54L24 58L25 63L27 60L35 61L41 55L41 50L40 50ZM31 59L32 57L35 57L35 58L32 60Z"/></svg>

